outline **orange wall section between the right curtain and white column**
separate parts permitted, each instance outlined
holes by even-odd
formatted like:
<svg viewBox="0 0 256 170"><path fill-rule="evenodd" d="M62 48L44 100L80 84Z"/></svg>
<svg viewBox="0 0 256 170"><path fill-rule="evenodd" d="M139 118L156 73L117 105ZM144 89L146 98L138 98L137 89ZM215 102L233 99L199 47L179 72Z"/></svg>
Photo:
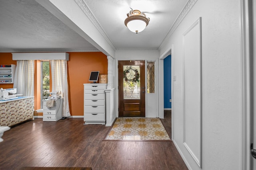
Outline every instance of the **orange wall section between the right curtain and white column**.
<svg viewBox="0 0 256 170"><path fill-rule="evenodd" d="M68 85L71 115L84 115L84 83L89 82L91 71L108 74L108 59L101 52L69 53Z"/></svg>

